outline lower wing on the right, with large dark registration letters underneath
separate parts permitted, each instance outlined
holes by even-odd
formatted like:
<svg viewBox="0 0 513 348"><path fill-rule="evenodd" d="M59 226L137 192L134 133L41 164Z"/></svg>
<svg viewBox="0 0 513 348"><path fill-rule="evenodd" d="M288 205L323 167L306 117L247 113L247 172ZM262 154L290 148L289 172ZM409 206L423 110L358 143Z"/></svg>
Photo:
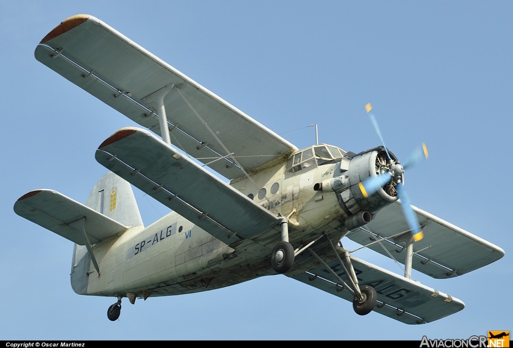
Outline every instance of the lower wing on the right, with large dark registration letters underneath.
<svg viewBox="0 0 513 348"><path fill-rule="evenodd" d="M360 287L369 285L377 292L378 303L373 311L406 324L423 324L461 311L465 304L455 297L441 293L416 281L351 256ZM342 279L346 279L338 261L328 266ZM292 277L314 288L345 300L353 300L349 291L324 267Z"/></svg>

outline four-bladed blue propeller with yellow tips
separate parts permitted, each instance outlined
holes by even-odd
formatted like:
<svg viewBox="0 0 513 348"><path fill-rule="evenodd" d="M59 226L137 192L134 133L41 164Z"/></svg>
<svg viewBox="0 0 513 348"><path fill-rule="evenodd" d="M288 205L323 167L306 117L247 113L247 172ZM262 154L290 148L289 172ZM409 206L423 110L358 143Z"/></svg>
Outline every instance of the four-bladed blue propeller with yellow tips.
<svg viewBox="0 0 513 348"><path fill-rule="evenodd" d="M396 182L397 195L399 199L401 199L401 208L403 209L403 214L408 223L408 227L410 228L411 235L413 237L413 240L419 241L424 237L424 235L420 228L420 223L419 219L417 218L417 214L415 214L413 208L411 208L411 201L408 196L408 193L406 192L406 189L404 188L402 182L402 175L407 168L416 166L423 160L427 159L428 153L426 145L422 144L422 146L414 150L410 154L410 156L404 161L403 165L401 165L399 161L392 160L385 146L385 141L383 140L383 136L381 135L381 131L378 126L376 116L374 116L374 113L372 112L371 105L367 104L365 106L365 109L367 110L367 114L370 117L370 121L372 122L372 125L374 126L376 133L378 133L378 136L381 139L381 144L385 148L385 152L389 161L389 170L383 174L370 177L369 179L360 182L358 184L360 190L362 191L364 197L368 197L371 194L376 193L379 189L381 189L388 182L390 182L390 180Z"/></svg>

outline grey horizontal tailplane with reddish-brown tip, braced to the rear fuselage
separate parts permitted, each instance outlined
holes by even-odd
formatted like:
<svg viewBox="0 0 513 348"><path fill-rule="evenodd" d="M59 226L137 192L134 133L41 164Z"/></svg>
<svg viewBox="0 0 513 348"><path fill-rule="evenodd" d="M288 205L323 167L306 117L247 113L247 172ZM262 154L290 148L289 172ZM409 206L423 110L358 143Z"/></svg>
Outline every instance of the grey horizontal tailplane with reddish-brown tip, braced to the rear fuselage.
<svg viewBox="0 0 513 348"><path fill-rule="evenodd" d="M84 204L53 190L34 190L14 203L14 212L66 239L91 244L123 232L127 227Z"/></svg>

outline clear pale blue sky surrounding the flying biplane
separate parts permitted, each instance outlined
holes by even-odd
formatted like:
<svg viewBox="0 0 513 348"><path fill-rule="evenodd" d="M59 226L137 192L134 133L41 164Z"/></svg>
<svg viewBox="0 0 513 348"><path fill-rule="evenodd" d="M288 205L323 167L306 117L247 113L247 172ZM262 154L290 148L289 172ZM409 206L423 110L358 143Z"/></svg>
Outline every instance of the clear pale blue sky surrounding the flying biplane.
<svg viewBox="0 0 513 348"><path fill-rule="evenodd" d="M87 13L277 133L319 125L319 140L360 152L380 141L405 158L412 203L499 245L501 260L455 279L412 277L463 300L407 326L285 276L200 294L123 302L76 295L73 244L13 212L49 188L85 203L105 172L94 151L133 122L34 58L65 18ZM511 2L0 2L0 339L413 339L511 330L513 121ZM283 135L313 144L306 128ZM146 225L169 210L135 190ZM350 243L347 243L350 245ZM455 245L455 248L458 246ZM371 251L356 256L401 273Z"/></svg>

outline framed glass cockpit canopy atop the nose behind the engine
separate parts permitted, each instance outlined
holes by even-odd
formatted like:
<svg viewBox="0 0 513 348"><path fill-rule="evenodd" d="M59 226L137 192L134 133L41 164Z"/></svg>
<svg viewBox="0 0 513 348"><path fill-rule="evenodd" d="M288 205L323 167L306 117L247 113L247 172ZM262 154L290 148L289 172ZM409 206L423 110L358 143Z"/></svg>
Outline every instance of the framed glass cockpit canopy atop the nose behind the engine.
<svg viewBox="0 0 513 348"><path fill-rule="evenodd" d="M294 154L287 160L286 171L289 173L297 173L300 170L314 166L322 165L336 158L342 158L346 152L340 148L330 145L314 145L303 149Z"/></svg>

